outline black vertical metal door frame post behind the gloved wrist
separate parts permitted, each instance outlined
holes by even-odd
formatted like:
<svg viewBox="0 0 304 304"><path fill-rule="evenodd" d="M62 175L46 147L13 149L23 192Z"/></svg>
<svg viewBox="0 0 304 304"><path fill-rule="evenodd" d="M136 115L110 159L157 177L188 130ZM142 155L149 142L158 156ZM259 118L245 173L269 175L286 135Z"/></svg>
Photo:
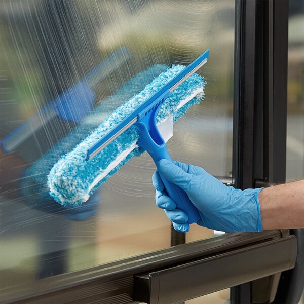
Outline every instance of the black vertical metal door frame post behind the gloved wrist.
<svg viewBox="0 0 304 304"><path fill-rule="evenodd" d="M241 189L267 187L286 178L288 4L236 0L233 172ZM278 278L265 280L264 285L272 287L264 296L255 294L256 282L232 288L233 304L254 303L256 297L258 302L298 303L304 282L304 230L290 233L298 243L295 268L283 273L280 283Z"/></svg>

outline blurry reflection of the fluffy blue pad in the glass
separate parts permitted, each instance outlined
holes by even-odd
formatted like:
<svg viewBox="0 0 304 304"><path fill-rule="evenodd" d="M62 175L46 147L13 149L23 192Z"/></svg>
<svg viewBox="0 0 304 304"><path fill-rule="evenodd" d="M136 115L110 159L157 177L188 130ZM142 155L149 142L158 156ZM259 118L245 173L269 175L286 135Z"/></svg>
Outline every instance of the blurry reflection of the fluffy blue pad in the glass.
<svg viewBox="0 0 304 304"><path fill-rule="evenodd" d="M32 163L20 179L20 188L24 198L27 198L30 202L34 201L37 207L41 204L46 205L46 202L53 200L50 196L47 176L56 162L77 146L92 130L98 128L115 109L141 92L146 85L167 69L167 65L156 64L137 73L123 87L103 99L79 125L60 139L47 153Z"/></svg>

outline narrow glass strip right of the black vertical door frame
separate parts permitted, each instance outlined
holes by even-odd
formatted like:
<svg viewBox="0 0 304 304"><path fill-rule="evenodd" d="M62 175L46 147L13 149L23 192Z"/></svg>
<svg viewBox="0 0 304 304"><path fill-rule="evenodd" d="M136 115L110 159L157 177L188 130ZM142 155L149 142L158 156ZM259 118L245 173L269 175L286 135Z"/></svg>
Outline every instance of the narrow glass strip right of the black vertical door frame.
<svg viewBox="0 0 304 304"><path fill-rule="evenodd" d="M289 2L287 181L304 178L304 4Z"/></svg>

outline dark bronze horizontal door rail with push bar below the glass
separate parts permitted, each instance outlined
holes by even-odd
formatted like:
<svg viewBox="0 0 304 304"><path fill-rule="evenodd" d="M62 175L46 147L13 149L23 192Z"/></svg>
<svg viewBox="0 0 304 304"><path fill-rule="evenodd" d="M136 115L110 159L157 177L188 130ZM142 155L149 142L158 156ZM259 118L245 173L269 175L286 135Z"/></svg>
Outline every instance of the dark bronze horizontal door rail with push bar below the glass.
<svg viewBox="0 0 304 304"><path fill-rule="evenodd" d="M2 303L174 303L293 268L288 231L231 233L8 288Z"/></svg>

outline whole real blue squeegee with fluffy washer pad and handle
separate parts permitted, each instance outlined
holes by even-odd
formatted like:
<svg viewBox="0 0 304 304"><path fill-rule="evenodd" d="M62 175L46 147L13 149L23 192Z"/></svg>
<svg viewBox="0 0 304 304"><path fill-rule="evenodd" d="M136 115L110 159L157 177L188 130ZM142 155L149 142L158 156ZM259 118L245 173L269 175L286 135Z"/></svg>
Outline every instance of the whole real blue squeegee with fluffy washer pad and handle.
<svg viewBox="0 0 304 304"><path fill-rule="evenodd" d="M135 146L147 150L156 164L164 158L172 161L158 125L172 116L177 120L200 101L205 81L195 72L207 62L208 55L209 50L187 67L173 66L160 74L59 160L48 176L55 200L63 205L86 202L119 170L121 162L136 156ZM165 179L163 182L177 208L187 213L188 223L196 222L198 211L185 192Z"/></svg>

